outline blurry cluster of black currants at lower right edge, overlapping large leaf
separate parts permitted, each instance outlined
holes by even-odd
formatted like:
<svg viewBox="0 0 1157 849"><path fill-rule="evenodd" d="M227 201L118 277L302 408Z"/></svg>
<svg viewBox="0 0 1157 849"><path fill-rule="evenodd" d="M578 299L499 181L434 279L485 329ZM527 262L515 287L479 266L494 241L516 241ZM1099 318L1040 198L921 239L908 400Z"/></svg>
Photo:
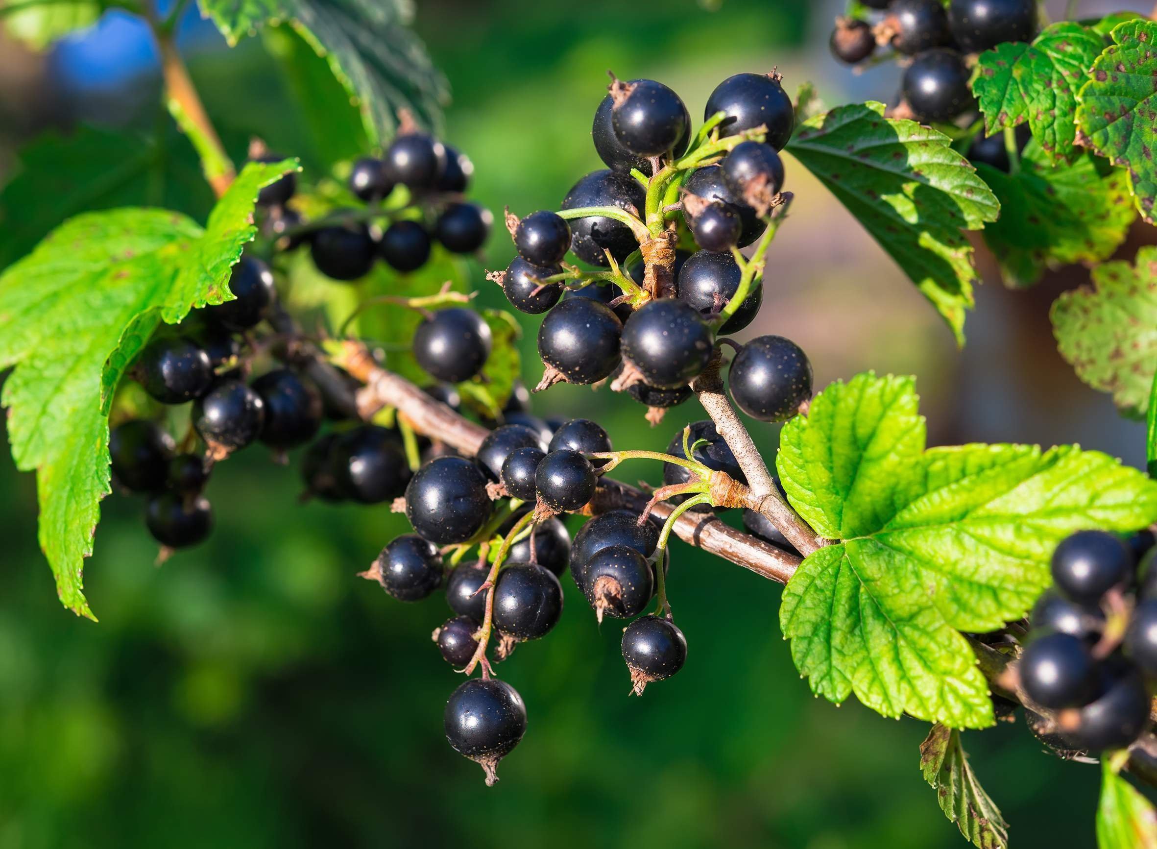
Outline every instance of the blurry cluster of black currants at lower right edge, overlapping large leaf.
<svg viewBox="0 0 1157 849"><path fill-rule="evenodd" d="M1148 552L1148 553L1147 553ZM1157 684L1157 548L1081 531L1053 554L1017 670L1029 726L1068 756L1125 748L1150 725Z"/></svg>

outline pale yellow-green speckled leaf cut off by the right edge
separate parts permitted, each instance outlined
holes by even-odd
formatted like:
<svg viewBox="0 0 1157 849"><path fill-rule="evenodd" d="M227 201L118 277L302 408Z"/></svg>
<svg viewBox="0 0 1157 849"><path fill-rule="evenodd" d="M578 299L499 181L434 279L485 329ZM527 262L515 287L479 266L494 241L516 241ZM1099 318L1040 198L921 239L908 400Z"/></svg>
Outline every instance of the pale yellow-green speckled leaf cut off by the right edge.
<svg viewBox="0 0 1157 849"><path fill-rule="evenodd" d="M1092 282L1053 304L1061 356L1122 411L1143 416L1157 374L1157 248L1137 251L1136 266L1093 268Z"/></svg>

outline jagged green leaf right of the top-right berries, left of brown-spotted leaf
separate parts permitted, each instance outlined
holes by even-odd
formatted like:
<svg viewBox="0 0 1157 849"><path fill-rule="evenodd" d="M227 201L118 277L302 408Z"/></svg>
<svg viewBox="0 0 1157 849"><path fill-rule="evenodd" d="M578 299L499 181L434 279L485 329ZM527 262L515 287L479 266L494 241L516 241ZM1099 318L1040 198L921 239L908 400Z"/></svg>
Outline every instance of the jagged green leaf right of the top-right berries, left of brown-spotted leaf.
<svg viewBox="0 0 1157 849"><path fill-rule="evenodd" d="M1105 46L1101 37L1071 21L1061 21L1032 42L1007 42L980 56L972 90L985 113L985 133L993 135L1029 121L1049 162L1071 162L1077 89Z"/></svg>

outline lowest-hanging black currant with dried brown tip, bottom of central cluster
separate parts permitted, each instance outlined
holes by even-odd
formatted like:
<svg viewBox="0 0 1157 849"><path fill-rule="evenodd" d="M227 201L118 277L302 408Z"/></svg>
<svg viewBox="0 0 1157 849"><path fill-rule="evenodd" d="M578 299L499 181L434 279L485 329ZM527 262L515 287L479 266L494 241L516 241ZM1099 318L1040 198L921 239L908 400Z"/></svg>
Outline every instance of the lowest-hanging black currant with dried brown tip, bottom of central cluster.
<svg viewBox="0 0 1157 849"><path fill-rule="evenodd" d="M458 754L481 765L486 784L498 780L498 765L526 732L526 706L518 692L496 678L472 678L445 703L445 739Z"/></svg>

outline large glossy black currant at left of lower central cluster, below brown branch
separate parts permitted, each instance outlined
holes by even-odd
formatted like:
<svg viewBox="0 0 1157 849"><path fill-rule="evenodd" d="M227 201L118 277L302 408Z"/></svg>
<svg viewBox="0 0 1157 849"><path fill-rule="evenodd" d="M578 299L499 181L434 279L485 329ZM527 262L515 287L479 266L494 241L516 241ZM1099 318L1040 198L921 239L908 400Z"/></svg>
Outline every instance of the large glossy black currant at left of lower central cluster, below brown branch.
<svg viewBox="0 0 1157 849"><path fill-rule="evenodd" d="M425 539L457 545L491 517L486 478L462 457L439 457L418 470L406 487L406 518Z"/></svg>

